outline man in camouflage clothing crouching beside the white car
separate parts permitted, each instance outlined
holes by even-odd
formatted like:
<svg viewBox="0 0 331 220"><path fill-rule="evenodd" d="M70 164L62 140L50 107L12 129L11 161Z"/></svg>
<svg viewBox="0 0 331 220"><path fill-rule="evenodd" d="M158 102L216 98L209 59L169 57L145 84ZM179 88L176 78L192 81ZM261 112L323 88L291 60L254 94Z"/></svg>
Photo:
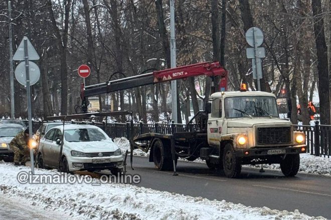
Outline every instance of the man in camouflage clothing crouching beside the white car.
<svg viewBox="0 0 331 220"><path fill-rule="evenodd" d="M30 149L28 146L29 128L18 133L14 139L9 143L9 147L14 152L15 165L25 165L25 162L30 160Z"/></svg>

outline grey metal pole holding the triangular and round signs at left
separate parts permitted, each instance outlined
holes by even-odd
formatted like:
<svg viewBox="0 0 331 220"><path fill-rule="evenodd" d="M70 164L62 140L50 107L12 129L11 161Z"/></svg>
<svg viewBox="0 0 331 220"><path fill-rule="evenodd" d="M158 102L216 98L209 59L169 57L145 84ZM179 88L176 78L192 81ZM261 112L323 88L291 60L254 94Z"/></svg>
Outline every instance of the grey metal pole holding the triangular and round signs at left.
<svg viewBox="0 0 331 220"><path fill-rule="evenodd" d="M28 53L28 38L24 37L24 58L25 58L25 70L27 77L27 96L28 96L28 118L29 118L29 142L32 139L32 112L31 112L31 91L30 91L30 74L29 74L29 53ZM30 146L29 146L30 147ZM33 148L30 147L30 162L31 162L31 172L35 174L35 163Z"/></svg>

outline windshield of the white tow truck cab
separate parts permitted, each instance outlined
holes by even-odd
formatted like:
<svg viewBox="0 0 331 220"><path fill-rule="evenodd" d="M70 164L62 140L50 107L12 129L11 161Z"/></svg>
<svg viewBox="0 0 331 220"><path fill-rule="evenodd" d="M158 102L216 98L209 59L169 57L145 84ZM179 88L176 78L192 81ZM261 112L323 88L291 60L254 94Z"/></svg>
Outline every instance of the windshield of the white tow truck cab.
<svg viewBox="0 0 331 220"><path fill-rule="evenodd" d="M225 116L278 117L276 99L271 96L240 96L225 98Z"/></svg>

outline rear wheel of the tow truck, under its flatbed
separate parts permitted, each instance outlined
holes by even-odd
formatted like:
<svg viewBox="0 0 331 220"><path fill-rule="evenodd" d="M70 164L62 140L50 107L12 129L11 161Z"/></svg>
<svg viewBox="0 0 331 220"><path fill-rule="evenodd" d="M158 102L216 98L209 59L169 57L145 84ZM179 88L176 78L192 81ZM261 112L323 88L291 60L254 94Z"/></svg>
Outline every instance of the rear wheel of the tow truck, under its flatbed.
<svg viewBox="0 0 331 220"><path fill-rule="evenodd" d="M171 156L171 149L164 148L160 139L155 140L153 144L153 161L158 170L172 170L173 160Z"/></svg>

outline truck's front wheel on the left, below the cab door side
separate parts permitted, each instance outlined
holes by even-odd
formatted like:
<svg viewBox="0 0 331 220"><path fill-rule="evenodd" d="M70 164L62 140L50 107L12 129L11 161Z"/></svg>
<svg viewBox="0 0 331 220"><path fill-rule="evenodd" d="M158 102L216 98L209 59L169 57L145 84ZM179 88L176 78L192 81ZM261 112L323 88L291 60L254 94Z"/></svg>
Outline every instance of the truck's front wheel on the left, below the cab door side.
<svg viewBox="0 0 331 220"><path fill-rule="evenodd" d="M241 172L241 160L236 157L236 153L231 143L227 143L223 151L223 169L229 178L236 178Z"/></svg>

